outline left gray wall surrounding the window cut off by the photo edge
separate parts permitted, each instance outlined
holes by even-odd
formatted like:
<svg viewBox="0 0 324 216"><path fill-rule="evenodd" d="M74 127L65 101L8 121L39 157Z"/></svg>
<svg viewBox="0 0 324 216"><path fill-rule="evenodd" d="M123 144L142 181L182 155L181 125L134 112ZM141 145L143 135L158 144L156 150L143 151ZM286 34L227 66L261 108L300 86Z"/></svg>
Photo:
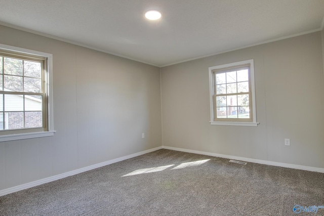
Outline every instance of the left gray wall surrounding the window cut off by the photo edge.
<svg viewBox="0 0 324 216"><path fill-rule="evenodd" d="M159 68L5 26L0 43L53 54L57 131L0 143L0 190L161 146Z"/></svg>

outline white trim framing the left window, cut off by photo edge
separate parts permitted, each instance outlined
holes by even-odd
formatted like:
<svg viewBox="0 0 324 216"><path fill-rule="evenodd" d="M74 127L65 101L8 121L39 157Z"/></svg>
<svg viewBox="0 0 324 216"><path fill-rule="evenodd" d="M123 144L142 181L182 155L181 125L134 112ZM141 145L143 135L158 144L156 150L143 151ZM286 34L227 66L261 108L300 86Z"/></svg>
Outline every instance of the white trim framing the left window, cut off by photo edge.
<svg viewBox="0 0 324 216"><path fill-rule="evenodd" d="M0 142L54 136L54 133L56 131L54 130L54 121L53 121L53 84L52 84L53 55L49 54L49 53L43 53L43 52L23 49L23 48L19 48L19 47L13 47L13 46L4 45L4 44L0 44L0 49L13 51L13 52L19 52L19 53L23 53L23 54L32 54L32 55L36 55L36 56L46 57L47 58L47 73L48 73L48 80L47 80L48 131L1 135Z"/></svg>

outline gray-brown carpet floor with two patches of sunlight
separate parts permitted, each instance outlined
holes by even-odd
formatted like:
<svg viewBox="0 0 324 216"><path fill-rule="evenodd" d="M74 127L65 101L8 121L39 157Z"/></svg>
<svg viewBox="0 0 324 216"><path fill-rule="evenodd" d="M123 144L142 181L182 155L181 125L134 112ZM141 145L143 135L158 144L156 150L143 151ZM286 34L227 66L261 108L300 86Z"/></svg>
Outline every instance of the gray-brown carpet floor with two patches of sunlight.
<svg viewBox="0 0 324 216"><path fill-rule="evenodd" d="M0 215L296 215L296 204L324 205L324 174L161 149L2 196Z"/></svg>

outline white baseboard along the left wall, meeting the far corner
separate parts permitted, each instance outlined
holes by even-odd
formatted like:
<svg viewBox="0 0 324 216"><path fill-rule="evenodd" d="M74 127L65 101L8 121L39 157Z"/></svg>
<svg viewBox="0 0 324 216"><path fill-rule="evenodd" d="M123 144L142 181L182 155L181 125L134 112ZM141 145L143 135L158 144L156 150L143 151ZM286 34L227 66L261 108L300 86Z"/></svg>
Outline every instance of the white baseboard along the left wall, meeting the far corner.
<svg viewBox="0 0 324 216"><path fill-rule="evenodd" d="M34 182L26 183L26 184L23 184L23 185L18 185L18 186L12 187L12 188L4 189L4 190L0 191L0 196L4 196L6 194L21 191L21 190L31 188L31 187L35 187L35 186L38 186L38 185L42 185L42 184L45 184L45 183L53 182L53 181L56 181L56 180L59 180L59 179L63 179L63 178L69 177L69 176L79 174L81 172L89 171L91 169L99 168L101 166L116 163L116 162L126 160L126 159L129 159L129 158L132 158L132 157L140 156L142 154L153 152L153 151L156 151L156 150L159 150L159 149L162 149L162 147L161 146L156 147L156 148L153 148L153 149L149 149L149 150L141 151L141 152L138 152L138 153L130 154L130 155L127 155L127 156L124 156L124 157L119 157L119 158L116 158L116 159L108 160L108 161L105 161L105 162L102 162L102 163L97 163L97 164L94 164L94 165L91 165L91 166L86 166L86 167L83 167L83 168L79 168L79 169L75 169L75 170L72 170L72 171L64 172L63 174L52 176L52 177L49 177L49 178L46 178L46 179L41 179L41 180L37 180L37 181L34 181Z"/></svg>

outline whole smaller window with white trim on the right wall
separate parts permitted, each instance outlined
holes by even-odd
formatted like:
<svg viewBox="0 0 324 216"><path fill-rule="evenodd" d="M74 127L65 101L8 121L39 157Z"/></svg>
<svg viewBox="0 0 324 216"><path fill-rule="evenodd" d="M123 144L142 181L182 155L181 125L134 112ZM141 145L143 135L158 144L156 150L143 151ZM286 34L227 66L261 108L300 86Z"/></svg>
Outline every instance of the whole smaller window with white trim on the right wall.
<svg viewBox="0 0 324 216"><path fill-rule="evenodd" d="M211 124L257 126L253 60L209 68Z"/></svg>

